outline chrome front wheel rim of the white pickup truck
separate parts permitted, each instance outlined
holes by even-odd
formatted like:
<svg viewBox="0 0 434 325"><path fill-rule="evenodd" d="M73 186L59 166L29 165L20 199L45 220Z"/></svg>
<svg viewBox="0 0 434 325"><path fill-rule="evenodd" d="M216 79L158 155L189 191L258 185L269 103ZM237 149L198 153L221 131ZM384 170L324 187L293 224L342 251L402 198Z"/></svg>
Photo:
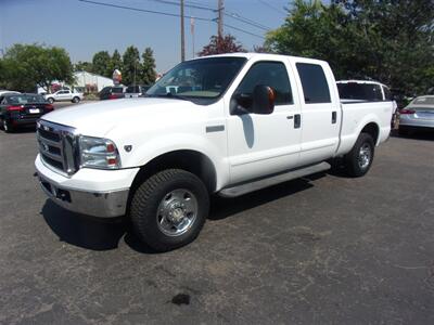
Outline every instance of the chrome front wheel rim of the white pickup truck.
<svg viewBox="0 0 434 325"><path fill-rule="evenodd" d="M197 199L189 190L178 188L167 193L158 205L156 222L168 236L188 232L197 217Z"/></svg>

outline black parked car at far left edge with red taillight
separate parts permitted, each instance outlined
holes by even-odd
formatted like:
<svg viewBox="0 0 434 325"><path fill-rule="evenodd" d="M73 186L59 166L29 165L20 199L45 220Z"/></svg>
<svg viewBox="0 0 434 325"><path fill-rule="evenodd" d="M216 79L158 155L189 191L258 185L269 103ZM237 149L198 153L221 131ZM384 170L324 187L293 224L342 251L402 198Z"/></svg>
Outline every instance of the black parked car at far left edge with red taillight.
<svg viewBox="0 0 434 325"><path fill-rule="evenodd" d="M0 121L4 132L22 126L31 126L47 113L54 109L40 94L7 93L0 95Z"/></svg>

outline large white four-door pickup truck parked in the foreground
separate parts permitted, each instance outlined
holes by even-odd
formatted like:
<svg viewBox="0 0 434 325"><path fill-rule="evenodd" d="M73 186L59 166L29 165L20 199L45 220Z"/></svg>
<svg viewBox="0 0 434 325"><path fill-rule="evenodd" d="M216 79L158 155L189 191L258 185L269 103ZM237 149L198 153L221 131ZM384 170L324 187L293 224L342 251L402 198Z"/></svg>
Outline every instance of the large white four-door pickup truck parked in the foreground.
<svg viewBox="0 0 434 325"><path fill-rule="evenodd" d="M169 91L168 91L169 89ZM66 209L131 219L158 251L192 242L209 195L238 196L330 168L363 176L392 102L340 102L328 63L256 53L177 65L144 99L71 107L38 122L42 190Z"/></svg>

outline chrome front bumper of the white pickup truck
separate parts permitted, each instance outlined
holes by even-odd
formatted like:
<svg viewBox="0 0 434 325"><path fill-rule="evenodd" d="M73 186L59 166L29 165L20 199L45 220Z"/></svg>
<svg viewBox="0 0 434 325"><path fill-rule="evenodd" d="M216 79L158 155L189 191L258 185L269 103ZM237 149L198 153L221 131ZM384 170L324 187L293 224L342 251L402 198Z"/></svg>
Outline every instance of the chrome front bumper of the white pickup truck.
<svg viewBox="0 0 434 325"><path fill-rule="evenodd" d="M62 188L39 176L43 192L59 206L82 214L114 218L126 213L129 190L85 192Z"/></svg>

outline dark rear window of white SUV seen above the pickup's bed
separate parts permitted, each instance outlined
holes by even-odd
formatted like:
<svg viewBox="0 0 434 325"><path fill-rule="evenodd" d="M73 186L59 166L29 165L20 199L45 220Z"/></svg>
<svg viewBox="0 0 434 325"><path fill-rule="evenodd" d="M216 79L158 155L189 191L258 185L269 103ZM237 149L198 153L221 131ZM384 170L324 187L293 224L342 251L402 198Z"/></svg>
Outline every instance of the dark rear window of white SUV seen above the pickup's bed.
<svg viewBox="0 0 434 325"><path fill-rule="evenodd" d="M375 83L337 83L337 90L342 100L361 100L372 102L383 100L381 88Z"/></svg>

